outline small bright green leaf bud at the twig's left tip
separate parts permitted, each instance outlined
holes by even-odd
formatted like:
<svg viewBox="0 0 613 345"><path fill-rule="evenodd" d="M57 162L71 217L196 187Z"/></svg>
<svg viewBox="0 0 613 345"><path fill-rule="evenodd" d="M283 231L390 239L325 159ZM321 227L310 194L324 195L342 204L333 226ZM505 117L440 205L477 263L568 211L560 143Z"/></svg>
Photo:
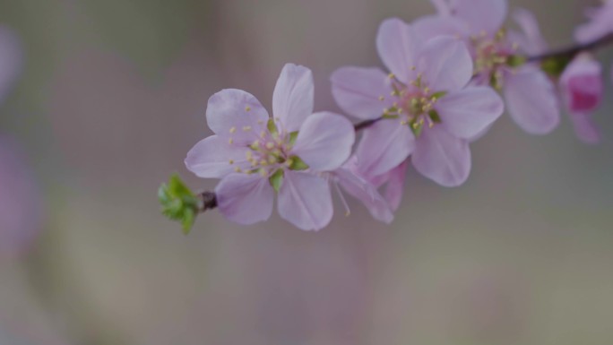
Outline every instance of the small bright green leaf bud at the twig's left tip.
<svg viewBox="0 0 613 345"><path fill-rule="evenodd" d="M183 232L189 234L201 202L177 174L168 179L168 184L160 185L158 200L161 213L169 220L180 222Z"/></svg>

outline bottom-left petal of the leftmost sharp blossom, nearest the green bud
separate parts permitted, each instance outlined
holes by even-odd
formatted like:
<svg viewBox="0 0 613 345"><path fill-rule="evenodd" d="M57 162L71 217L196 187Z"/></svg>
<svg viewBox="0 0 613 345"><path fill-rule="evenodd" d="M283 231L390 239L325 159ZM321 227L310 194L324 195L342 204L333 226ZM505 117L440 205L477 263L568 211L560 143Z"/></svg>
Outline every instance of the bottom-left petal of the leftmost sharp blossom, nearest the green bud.
<svg viewBox="0 0 613 345"><path fill-rule="evenodd" d="M215 188L218 208L228 220L254 224L268 220L272 214L274 190L259 174L231 174Z"/></svg>

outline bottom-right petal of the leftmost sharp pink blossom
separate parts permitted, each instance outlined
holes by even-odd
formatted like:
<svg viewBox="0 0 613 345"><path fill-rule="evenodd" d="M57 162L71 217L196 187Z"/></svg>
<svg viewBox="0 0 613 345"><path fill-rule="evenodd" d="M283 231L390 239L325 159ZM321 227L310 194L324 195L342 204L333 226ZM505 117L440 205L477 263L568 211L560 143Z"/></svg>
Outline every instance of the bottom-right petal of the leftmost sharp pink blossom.
<svg viewBox="0 0 613 345"><path fill-rule="evenodd" d="M323 229L333 214L330 184L309 173L286 171L277 208L281 218L298 229Z"/></svg>

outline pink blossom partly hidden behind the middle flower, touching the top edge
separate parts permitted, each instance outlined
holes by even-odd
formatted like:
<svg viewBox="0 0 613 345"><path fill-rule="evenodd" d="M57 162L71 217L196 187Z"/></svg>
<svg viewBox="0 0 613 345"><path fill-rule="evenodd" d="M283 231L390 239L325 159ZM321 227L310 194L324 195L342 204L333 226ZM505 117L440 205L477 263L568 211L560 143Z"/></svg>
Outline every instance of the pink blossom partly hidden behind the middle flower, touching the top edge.
<svg viewBox="0 0 613 345"><path fill-rule="evenodd" d="M530 37L503 27L508 10L507 2L432 2L439 13L415 22L419 35L451 35L464 39L474 61L473 82L490 85L501 91L509 114L524 131L530 134L548 134L553 131L560 117L555 87L538 65L524 64L522 55L530 54L531 46L522 43Z"/></svg>

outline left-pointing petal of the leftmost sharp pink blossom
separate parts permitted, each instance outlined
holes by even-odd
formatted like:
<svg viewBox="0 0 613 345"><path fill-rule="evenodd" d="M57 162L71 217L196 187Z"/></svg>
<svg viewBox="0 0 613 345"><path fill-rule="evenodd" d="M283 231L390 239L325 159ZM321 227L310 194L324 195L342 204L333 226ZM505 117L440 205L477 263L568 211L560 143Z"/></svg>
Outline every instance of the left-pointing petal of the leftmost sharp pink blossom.
<svg viewBox="0 0 613 345"><path fill-rule="evenodd" d="M186 167L197 177L221 178L234 172L236 167L246 168L246 147L229 145L225 139L212 135L196 143L187 152ZM232 160L232 164L230 164Z"/></svg>

